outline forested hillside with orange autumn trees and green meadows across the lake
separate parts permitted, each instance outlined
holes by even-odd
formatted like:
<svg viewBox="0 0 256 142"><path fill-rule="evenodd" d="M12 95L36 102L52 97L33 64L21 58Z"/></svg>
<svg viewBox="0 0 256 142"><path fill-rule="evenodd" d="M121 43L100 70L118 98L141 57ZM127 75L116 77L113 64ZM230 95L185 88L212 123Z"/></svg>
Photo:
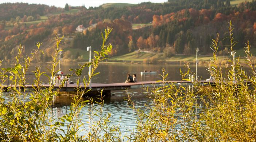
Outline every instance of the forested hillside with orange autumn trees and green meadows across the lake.
<svg viewBox="0 0 256 142"><path fill-rule="evenodd" d="M166 3L107 4L100 7L65 9L26 3L0 4L0 59L12 60L19 44L30 53L43 42L38 62L49 61L54 38L64 36L61 48L65 61L84 60L87 46L100 49L102 29L113 27L108 42L110 56L138 49L174 54L209 54L211 40L221 35L219 55L227 54L224 33L234 25L235 50L249 40L256 46L256 1L235 4L230 0L168 0ZM65 5L65 4L63 4ZM80 25L80 29L77 27Z"/></svg>

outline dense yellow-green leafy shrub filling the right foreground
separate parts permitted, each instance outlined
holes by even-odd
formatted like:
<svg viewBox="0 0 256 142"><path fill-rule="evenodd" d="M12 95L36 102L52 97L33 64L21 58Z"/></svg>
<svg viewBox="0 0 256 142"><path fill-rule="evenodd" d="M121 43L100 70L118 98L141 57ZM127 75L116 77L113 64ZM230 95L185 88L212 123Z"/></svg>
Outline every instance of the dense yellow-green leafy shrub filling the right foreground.
<svg viewBox="0 0 256 142"><path fill-rule="evenodd" d="M230 22L230 52L233 41ZM214 84L194 81L186 84L162 83L145 91L151 102L146 110L136 107L132 96L128 102L137 115L136 129L132 131L133 141L256 141L256 71L251 62L250 45L245 52L251 68L249 76L242 69L239 58L232 58L229 66L218 65L219 37L212 41L213 60L208 71ZM189 66L188 66L189 67ZM192 74L188 68L182 73L182 80ZM165 81L168 74L163 70Z"/></svg>

